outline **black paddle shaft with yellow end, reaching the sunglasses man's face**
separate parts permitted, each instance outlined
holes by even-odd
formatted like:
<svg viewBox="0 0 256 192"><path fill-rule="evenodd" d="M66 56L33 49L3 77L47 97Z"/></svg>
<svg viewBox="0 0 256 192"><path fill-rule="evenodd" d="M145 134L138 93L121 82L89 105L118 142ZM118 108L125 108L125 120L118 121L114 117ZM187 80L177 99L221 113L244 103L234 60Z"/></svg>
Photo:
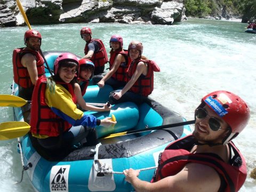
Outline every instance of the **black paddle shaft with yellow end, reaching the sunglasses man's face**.
<svg viewBox="0 0 256 192"><path fill-rule="evenodd" d="M194 124L194 123L195 123L195 120L191 120L191 121L186 121L186 122L180 122L180 123L173 123L173 124L168 124L168 125L161 125L161 126L150 127L150 128L146 128L146 129L142 129L142 130L132 130L132 131L114 133L114 134L110 134L109 136L105 137L105 139L113 138L113 137L119 137L119 136L122 136L122 135L141 133L141 132L146 132L146 131L152 131L152 130L161 130L161 129L171 128L171 127L190 125L190 124Z"/></svg>

